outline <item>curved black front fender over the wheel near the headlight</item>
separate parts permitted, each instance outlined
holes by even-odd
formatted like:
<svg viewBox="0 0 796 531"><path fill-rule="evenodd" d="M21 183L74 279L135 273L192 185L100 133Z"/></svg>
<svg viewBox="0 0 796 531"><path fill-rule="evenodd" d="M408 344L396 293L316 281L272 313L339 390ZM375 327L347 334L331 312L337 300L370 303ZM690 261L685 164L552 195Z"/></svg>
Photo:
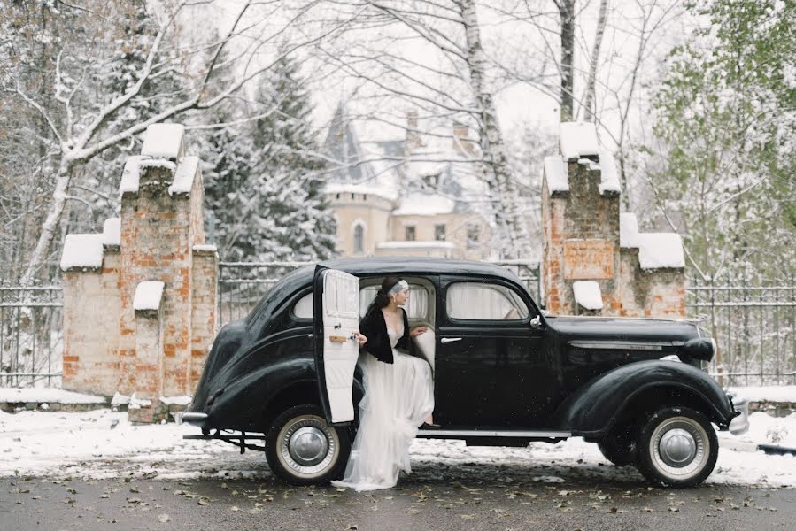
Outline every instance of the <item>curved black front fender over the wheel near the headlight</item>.
<svg viewBox="0 0 796 531"><path fill-rule="evenodd" d="M654 389L695 398L722 429L736 415L730 399L707 373L688 364L655 359L617 367L592 379L553 412L553 426L575 436L599 438L614 427L634 398ZM665 400L661 395L661 407L667 405Z"/></svg>

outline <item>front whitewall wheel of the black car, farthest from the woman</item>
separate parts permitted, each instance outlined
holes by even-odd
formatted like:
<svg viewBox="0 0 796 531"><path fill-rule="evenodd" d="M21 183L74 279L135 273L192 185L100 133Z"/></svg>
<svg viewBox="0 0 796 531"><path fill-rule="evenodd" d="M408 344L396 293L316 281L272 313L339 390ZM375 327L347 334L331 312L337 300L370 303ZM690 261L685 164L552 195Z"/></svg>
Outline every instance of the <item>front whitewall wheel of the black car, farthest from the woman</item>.
<svg viewBox="0 0 796 531"><path fill-rule="evenodd" d="M718 455L718 439L710 420L688 407L653 412L638 432L636 466L653 483L699 485L713 472Z"/></svg>

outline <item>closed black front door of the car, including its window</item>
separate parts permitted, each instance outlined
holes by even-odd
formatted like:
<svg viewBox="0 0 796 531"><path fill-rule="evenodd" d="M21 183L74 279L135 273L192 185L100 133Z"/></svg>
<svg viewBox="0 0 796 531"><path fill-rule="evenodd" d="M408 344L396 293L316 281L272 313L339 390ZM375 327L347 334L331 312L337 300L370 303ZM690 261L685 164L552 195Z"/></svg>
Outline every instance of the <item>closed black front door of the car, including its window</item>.
<svg viewBox="0 0 796 531"><path fill-rule="evenodd" d="M527 292L498 278L444 276L440 284L435 420L545 427L560 386Z"/></svg>

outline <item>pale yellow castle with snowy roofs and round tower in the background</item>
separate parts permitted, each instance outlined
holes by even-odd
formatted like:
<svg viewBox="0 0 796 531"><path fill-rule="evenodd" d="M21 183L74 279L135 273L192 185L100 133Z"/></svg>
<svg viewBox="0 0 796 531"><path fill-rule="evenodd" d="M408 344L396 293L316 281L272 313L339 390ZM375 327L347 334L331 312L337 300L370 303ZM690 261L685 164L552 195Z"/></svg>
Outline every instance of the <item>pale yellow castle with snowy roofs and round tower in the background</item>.
<svg viewBox="0 0 796 531"><path fill-rule="evenodd" d="M339 104L324 150L337 161L326 195L344 257L496 258L488 189L468 127L419 129L355 119Z"/></svg>

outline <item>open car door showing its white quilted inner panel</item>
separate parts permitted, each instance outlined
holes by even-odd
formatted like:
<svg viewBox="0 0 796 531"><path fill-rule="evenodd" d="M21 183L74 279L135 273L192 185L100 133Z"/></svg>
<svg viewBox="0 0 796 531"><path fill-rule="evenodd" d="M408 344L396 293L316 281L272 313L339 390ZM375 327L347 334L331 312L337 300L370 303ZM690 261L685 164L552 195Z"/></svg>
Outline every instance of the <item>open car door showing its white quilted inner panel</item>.
<svg viewBox="0 0 796 531"><path fill-rule="evenodd" d="M359 358L359 279L317 266L313 296L315 369L321 406L329 424L354 419L352 386Z"/></svg>

